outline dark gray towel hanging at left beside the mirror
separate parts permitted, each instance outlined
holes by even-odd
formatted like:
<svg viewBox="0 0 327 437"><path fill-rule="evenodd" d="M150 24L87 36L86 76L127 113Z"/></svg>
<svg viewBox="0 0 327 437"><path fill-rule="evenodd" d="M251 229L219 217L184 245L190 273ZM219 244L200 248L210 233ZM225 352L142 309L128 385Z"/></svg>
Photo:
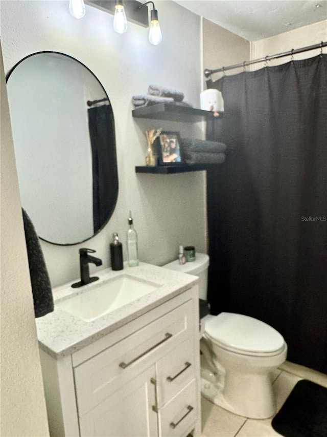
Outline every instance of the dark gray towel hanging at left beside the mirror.
<svg viewBox="0 0 327 437"><path fill-rule="evenodd" d="M22 209L27 256L34 301L35 317L42 317L54 310L51 283L35 228L26 211Z"/></svg>

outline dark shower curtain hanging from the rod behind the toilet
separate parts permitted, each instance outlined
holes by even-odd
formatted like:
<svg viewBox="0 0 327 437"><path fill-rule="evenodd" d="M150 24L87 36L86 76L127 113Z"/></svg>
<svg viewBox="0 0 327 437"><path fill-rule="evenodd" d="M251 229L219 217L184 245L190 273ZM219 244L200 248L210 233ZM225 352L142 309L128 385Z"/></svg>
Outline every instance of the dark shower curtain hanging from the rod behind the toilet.
<svg viewBox="0 0 327 437"><path fill-rule="evenodd" d="M288 360L327 373L327 55L224 76L207 123L208 300L265 321Z"/></svg>

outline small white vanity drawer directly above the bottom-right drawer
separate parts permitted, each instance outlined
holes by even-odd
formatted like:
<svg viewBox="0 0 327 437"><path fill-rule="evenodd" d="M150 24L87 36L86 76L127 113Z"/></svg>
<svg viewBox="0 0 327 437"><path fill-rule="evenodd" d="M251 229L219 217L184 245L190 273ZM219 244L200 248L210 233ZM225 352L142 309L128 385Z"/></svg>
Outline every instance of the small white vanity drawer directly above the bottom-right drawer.
<svg viewBox="0 0 327 437"><path fill-rule="evenodd" d="M190 337L157 363L158 407L195 378L194 339Z"/></svg>

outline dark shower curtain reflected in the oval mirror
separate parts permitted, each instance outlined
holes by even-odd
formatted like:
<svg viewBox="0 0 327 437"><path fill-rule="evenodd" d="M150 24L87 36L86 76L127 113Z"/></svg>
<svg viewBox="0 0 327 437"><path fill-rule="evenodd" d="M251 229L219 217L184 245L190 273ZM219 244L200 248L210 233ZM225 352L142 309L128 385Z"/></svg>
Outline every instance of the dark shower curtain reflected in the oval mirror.
<svg viewBox="0 0 327 437"><path fill-rule="evenodd" d="M110 105L95 106L87 112L92 152L93 222L97 233L111 216L118 193L114 119Z"/></svg>

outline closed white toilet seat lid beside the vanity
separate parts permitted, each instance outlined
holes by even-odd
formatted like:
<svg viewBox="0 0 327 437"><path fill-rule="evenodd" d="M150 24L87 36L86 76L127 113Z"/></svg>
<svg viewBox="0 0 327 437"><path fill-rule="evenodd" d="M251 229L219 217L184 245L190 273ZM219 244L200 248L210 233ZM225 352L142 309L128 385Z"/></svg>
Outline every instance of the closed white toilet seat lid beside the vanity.
<svg viewBox="0 0 327 437"><path fill-rule="evenodd" d="M273 327L241 314L220 313L211 317L204 331L217 346L241 355L271 357L286 347L284 338Z"/></svg>

